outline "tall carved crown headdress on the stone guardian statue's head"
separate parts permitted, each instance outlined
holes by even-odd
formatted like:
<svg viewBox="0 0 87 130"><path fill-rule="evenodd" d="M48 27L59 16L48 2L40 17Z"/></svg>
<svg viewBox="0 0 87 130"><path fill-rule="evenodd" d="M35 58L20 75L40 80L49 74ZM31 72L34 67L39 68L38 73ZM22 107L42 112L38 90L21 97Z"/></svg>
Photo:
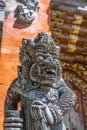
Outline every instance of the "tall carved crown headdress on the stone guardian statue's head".
<svg viewBox="0 0 87 130"><path fill-rule="evenodd" d="M59 58L60 47L56 46L51 36L41 32L34 39L23 39L22 46L20 47L19 59L21 67L18 67L19 72L22 71L23 77L27 78L29 69L35 61L36 53L49 52L52 55L56 55Z"/></svg>

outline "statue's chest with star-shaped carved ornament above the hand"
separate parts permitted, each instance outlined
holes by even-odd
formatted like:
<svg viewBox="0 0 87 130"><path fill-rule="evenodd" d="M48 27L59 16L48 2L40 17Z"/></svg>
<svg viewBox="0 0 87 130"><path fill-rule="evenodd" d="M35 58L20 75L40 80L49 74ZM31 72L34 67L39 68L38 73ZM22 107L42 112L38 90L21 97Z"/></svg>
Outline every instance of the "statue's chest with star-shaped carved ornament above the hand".
<svg viewBox="0 0 87 130"><path fill-rule="evenodd" d="M36 101L40 100L46 104L55 104L58 102L59 94L56 89L50 89L50 90L32 90L27 92L23 95L22 100L25 100L25 104L28 106L31 106L31 104Z"/></svg>

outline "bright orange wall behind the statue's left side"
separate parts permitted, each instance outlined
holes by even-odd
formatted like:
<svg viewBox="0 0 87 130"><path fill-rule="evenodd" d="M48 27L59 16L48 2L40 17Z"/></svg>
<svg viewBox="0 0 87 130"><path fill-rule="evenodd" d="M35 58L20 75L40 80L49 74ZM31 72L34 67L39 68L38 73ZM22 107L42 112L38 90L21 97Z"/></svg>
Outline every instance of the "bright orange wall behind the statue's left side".
<svg viewBox="0 0 87 130"><path fill-rule="evenodd" d="M38 16L28 27L21 28L21 24L15 23L12 13L4 20L0 57L0 130L3 130L6 91L17 76L18 53L22 38L33 39L41 31L50 34L47 14L49 13L49 3L50 0L40 0Z"/></svg>

